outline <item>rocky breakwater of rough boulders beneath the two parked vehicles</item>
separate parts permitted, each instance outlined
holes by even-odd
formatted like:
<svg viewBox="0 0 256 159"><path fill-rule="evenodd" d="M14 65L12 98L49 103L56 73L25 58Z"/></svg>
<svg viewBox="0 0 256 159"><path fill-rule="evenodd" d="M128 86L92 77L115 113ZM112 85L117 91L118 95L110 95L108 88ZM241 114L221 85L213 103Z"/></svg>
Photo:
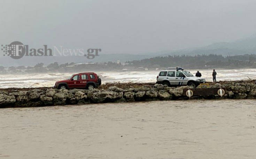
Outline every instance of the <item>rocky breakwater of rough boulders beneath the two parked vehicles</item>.
<svg viewBox="0 0 256 159"><path fill-rule="evenodd" d="M231 98L231 99L256 99L256 85L254 83L229 82L220 85L210 86L210 88L225 88L223 97L215 95L192 96L191 98ZM204 88L167 87L156 84L152 86L142 86L139 88L122 89L116 86L107 89L29 89L14 90L12 92L0 92L0 108L4 107L37 107L53 105L73 105L107 102L129 102L129 101L152 101L152 100L175 100L188 99L184 91L193 91Z"/></svg>

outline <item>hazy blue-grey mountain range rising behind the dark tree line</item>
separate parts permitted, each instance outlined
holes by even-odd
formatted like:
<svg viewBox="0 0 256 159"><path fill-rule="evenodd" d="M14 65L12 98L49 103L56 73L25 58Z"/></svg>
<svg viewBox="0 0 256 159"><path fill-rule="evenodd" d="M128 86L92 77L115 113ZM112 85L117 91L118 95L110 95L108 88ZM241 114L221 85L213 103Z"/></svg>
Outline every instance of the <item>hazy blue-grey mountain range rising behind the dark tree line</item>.
<svg viewBox="0 0 256 159"><path fill-rule="evenodd" d="M62 63L86 63L86 62L121 62L132 61L132 60L141 60L146 58L153 58L156 56L167 56L167 55L197 55L197 54L218 54L218 55L243 55L243 54L256 54L256 34L239 39L234 42L219 42L214 43L204 47L197 48L187 48L177 51L159 51L155 53L145 53L145 54L100 54L95 56L94 59L87 59L83 56L24 56L21 59L15 60L10 57L2 56L0 57L0 65L9 67L9 66L18 66L18 65L35 65L37 63L53 63L58 62Z"/></svg>

